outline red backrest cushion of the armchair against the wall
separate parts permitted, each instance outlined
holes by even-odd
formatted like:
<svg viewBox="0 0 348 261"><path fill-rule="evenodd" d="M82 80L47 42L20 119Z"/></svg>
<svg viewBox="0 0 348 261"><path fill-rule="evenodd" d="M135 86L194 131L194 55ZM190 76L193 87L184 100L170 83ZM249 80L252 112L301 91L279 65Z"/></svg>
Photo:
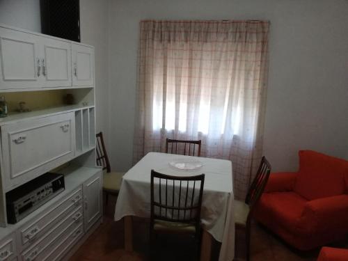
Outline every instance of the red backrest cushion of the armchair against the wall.
<svg viewBox="0 0 348 261"><path fill-rule="evenodd" d="M314 200L347 191L345 176L348 175L348 161L312 150L300 150L299 159L294 191L303 198Z"/></svg>

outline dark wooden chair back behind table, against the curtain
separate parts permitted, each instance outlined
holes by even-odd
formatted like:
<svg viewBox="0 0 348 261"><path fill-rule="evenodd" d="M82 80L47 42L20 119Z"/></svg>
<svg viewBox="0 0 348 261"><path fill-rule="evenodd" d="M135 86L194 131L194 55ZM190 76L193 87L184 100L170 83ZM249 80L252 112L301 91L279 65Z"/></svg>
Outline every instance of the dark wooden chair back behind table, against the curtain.
<svg viewBox="0 0 348 261"><path fill-rule="evenodd" d="M201 140L184 141L166 139L166 153L200 157L201 143Z"/></svg>

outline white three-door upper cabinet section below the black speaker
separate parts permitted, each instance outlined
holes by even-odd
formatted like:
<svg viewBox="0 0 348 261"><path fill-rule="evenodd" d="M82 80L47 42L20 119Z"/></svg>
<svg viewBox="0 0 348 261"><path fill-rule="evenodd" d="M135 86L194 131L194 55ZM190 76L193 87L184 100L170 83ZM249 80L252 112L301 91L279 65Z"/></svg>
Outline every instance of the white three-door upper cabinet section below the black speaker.
<svg viewBox="0 0 348 261"><path fill-rule="evenodd" d="M94 49L0 26L0 90L94 86Z"/></svg>

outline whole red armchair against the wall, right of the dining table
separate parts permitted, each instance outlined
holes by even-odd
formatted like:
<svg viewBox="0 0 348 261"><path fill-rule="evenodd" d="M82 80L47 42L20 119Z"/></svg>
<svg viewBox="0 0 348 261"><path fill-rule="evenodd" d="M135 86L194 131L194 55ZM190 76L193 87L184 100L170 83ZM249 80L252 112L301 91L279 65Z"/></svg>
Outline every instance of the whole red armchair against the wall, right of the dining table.
<svg viewBox="0 0 348 261"><path fill-rule="evenodd" d="M348 161L299 151L297 173L272 173L254 218L300 250L348 235Z"/></svg>

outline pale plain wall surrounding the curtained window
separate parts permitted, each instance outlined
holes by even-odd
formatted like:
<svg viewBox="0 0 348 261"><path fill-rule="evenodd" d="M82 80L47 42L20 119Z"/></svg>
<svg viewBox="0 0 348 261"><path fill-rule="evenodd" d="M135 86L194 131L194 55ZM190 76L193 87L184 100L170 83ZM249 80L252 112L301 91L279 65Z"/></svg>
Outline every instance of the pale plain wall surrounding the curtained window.
<svg viewBox="0 0 348 261"><path fill-rule="evenodd" d="M348 159L348 1L111 0L111 162L132 163L136 54L141 19L269 19L264 155L296 170L297 151Z"/></svg>

